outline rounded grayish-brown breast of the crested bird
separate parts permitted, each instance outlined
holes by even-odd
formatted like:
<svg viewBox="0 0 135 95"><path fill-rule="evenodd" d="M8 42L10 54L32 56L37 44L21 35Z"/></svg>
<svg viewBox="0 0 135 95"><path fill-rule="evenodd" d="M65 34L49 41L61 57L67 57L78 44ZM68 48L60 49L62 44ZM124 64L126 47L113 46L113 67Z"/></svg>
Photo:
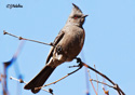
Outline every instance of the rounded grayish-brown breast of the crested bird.
<svg viewBox="0 0 135 95"><path fill-rule="evenodd" d="M85 33L82 28L73 28L65 32L58 45L62 45L64 55L67 56L67 62L72 60L80 53L84 43L84 37Z"/></svg>

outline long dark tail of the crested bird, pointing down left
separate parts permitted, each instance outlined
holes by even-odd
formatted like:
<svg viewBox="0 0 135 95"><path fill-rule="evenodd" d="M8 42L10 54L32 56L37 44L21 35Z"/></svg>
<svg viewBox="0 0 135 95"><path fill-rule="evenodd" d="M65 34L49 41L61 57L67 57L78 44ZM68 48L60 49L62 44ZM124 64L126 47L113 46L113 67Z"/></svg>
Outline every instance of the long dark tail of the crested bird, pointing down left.
<svg viewBox="0 0 135 95"><path fill-rule="evenodd" d="M36 87L42 86L54 69L55 67L44 66L43 69L24 86L24 89L31 90L32 93L38 93L41 89Z"/></svg>

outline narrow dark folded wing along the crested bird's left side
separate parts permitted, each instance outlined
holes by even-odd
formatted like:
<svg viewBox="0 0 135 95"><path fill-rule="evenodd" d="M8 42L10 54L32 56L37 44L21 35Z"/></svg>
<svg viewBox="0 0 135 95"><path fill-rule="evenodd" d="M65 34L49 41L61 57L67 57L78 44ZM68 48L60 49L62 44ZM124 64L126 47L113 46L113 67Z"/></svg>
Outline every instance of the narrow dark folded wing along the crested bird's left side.
<svg viewBox="0 0 135 95"><path fill-rule="evenodd" d="M50 58L52 57L53 55L53 51L55 49L55 45L62 40L62 38L64 37L65 32L63 30L59 31L59 33L57 35L57 37L55 38L54 42L53 42L53 45L50 50L50 53L48 55L48 58L46 58L46 64L49 63Z"/></svg>

